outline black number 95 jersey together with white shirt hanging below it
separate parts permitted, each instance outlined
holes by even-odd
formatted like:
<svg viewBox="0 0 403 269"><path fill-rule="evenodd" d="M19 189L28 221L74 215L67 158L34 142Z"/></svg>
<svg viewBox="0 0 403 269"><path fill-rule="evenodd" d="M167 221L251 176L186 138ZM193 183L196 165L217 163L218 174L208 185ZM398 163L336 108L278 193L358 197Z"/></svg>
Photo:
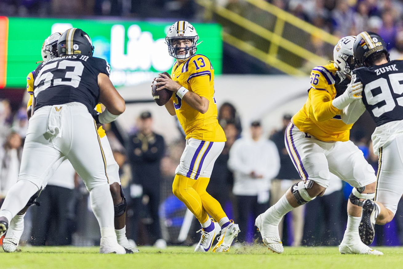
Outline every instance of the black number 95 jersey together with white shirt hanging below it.
<svg viewBox="0 0 403 269"><path fill-rule="evenodd" d="M377 153L388 141L403 134L403 61L357 68L351 80L363 84L359 103L376 123L372 141Z"/></svg>

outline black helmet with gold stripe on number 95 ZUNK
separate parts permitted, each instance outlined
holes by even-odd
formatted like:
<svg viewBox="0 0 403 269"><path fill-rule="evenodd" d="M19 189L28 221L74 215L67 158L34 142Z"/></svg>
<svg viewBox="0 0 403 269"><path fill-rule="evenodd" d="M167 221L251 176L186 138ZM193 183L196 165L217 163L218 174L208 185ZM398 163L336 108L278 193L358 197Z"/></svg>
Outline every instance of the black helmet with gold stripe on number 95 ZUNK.
<svg viewBox="0 0 403 269"><path fill-rule="evenodd" d="M389 61L389 53L385 41L374 32L361 32L357 35L353 45L353 55L356 67L364 66L368 57L383 51Z"/></svg>

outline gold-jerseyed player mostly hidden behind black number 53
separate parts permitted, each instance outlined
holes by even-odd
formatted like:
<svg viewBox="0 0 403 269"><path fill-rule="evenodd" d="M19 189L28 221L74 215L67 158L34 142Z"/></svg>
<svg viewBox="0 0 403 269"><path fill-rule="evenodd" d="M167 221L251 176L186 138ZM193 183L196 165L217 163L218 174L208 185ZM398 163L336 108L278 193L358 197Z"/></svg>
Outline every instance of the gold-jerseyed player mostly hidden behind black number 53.
<svg viewBox="0 0 403 269"><path fill-rule="evenodd" d="M60 33L54 33L46 38L42 46L42 60L48 61L58 56L57 54L57 42L60 38ZM35 71L29 72L27 76L27 92L29 93L29 100L27 103L27 114L28 118L31 118L31 110L33 105L33 75ZM35 104L34 104L35 105ZM96 111L101 113L101 104L96 106ZM108 174L108 183L110 185L110 192L112 194L112 200L114 203L114 225L115 233L118 243L131 250L131 252L139 252L135 246L132 246L126 237L126 198L124 196L123 190L120 187L119 178L119 166L114 160L112 149L110 148L109 141L106 137L105 130L100 126L98 128L99 141L103 149L105 161L106 161L106 172ZM64 162L69 162L69 160L64 160ZM44 189L44 187L42 187ZM3 240L3 249L5 252L14 252L17 250L21 235L24 230L24 216L29 206L35 204L35 199L39 197L40 189L35 195L29 200L27 206L21 210L10 222L6 236Z"/></svg>

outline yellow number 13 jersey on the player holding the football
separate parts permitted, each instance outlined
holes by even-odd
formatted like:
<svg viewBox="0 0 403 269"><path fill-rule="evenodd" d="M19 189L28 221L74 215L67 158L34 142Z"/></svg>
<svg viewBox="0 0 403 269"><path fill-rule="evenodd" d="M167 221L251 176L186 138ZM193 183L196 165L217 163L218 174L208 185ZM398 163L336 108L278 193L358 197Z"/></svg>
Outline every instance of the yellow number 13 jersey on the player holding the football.
<svg viewBox="0 0 403 269"><path fill-rule="evenodd" d="M210 101L206 113L200 113L176 94L172 95L175 111L186 134L186 139L193 137L210 142L226 141L224 130L217 120L217 105L214 99L214 69L210 60L201 54L193 55L186 61L175 63L171 73L172 80L178 82L190 92L205 97Z"/></svg>

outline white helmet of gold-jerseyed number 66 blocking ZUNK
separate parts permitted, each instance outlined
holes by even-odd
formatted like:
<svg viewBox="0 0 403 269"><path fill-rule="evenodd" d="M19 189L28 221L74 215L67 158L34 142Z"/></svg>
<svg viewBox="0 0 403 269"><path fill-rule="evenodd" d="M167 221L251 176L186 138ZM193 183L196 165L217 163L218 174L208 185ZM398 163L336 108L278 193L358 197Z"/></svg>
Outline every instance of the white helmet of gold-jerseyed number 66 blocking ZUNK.
<svg viewBox="0 0 403 269"><path fill-rule="evenodd" d="M334 65L345 75L351 75L351 70L354 69L353 58L353 45L355 42L355 36L345 36L333 50Z"/></svg>

